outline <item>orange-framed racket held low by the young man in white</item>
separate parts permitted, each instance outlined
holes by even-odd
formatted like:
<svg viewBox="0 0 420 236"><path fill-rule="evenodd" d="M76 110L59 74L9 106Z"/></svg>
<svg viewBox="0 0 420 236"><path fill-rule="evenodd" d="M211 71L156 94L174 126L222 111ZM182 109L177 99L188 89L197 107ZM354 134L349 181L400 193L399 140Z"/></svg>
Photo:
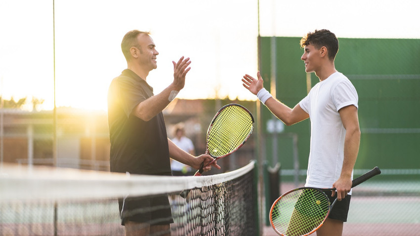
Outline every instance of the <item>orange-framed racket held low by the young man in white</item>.
<svg viewBox="0 0 420 236"><path fill-rule="evenodd" d="M355 187L380 174L378 167L353 180ZM330 204L324 191L303 187L291 190L279 197L271 207L270 223L274 231L282 236L307 236L317 231L325 222L337 199Z"/></svg>

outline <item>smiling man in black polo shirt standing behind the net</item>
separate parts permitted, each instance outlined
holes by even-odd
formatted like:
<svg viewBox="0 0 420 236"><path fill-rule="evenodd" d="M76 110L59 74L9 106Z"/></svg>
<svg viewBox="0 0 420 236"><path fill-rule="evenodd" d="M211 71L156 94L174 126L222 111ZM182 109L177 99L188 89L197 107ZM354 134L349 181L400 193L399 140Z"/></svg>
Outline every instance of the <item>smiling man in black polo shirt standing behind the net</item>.
<svg viewBox="0 0 420 236"><path fill-rule="evenodd" d="M166 133L162 111L184 87L190 59L181 57L178 62L173 61L173 81L162 92L154 94L146 78L157 68L159 52L149 33L138 30L126 33L121 49L127 69L112 80L108 91L111 171L170 176L169 157L195 169L199 169L203 161L212 161L209 155L194 157L178 148ZM217 164L213 166L220 168ZM210 168L206 167L205 171ZM126 197L119 200L119 206L127 236L157 232L170 235L169 224L173 220L168 196L141 200ZM143 213L137 210L145 207L159 209Z"/></svg>

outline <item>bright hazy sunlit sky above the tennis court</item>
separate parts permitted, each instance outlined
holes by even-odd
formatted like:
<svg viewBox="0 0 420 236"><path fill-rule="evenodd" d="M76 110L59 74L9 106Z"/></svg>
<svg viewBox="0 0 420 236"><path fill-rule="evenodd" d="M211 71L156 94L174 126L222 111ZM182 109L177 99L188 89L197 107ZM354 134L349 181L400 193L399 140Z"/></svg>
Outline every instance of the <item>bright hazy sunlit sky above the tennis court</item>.
<svg viewBox="0 0 420 236"><path fill-rule="evenodd" d="M179 98L255 99L242 87L257 71L257 0L55 0L57 106L106 110L109 83L126 68L120 44L151 31L160 92L172 60L192 60ZM330 29L338 38L420 39L419 0L260 0L261 36L301 37ZM0 0L0 95L44 99L53 108L53 0ZM298 46L298 42L296 42ZM303 70L302 64L302 70Z"/></svg>

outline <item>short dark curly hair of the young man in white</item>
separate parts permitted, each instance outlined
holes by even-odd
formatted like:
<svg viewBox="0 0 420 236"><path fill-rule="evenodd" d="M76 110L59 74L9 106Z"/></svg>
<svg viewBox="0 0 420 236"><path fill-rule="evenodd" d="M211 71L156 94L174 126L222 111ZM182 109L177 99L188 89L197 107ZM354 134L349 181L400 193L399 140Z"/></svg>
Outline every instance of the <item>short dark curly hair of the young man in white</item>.
<svg viewBox="0 0 420 236"><path fill-rule="evenodd" d="M328 50L328 58L332 61L334 61L338 52L338 39L329 30L315 30L307 33L300 39L300 46L304 47L306 45L313 45L317 49L325 46Z"/></svg>

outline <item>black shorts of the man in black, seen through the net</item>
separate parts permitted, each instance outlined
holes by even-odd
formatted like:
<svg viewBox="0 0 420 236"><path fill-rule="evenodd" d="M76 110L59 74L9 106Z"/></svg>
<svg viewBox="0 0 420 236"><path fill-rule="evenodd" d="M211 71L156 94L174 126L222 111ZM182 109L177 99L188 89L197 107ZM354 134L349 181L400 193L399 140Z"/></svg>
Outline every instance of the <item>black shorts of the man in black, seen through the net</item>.
<svg viewBox="0 0 420 236"><path fill-rule="evenodd" d="M171 173L158 175L170 176ZM118 199L121 224L127 221L150 225L168 225L173 223L168 194L152 197L125 197Z"/></svg>

